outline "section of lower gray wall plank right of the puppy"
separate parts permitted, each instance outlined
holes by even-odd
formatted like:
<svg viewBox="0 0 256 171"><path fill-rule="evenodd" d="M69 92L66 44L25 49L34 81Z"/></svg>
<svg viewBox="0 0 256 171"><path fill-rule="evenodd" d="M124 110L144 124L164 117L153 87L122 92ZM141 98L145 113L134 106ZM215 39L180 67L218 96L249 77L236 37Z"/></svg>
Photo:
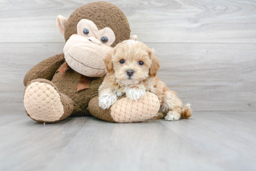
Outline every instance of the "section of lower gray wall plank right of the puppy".
<svg viewBox="0 0 256 171"><path fill-rule="evenodd" d="M256 110L255 44L147 44L158 77L195 111Z"/></svg>

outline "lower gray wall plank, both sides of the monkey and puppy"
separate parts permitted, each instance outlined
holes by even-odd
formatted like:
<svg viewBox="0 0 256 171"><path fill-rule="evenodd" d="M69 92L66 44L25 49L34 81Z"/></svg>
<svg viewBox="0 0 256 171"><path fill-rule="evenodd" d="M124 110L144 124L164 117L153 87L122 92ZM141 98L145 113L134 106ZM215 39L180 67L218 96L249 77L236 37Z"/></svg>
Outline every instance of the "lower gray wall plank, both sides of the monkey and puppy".
<svg viewBox="0 0 256 171"><path fill-rule="evenodd" d="M62 52L64 43L1 43L0 109L24 110L23 78ZM147 43L161 61L158 77L194 111L256 110L255 44ZM15 47L13 49L13 47Z"/></svg>

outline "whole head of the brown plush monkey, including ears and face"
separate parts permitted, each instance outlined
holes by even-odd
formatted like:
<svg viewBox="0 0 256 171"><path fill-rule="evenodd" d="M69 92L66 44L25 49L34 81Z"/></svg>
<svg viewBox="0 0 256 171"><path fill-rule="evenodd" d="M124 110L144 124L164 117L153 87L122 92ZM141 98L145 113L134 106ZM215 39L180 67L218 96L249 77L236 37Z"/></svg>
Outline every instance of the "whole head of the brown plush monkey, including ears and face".
<svg viewBox="0 0 256 171"><path fill-rule="evenodd" d="M130 37L125 14L113 4L98 1L77 8L69 18L57 17L57 28L65 36L65 59L74 71L88 77L102 77L103 59L113 47Z"/></svg>

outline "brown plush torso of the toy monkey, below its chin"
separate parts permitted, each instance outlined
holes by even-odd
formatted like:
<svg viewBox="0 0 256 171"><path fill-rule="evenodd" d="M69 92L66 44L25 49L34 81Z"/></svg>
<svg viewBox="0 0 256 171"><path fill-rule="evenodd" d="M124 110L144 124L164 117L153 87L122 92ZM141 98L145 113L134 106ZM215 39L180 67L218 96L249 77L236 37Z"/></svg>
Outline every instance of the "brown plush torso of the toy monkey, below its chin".
<svg viewBox="0 0 256 171"><path fill-rule="evenodd" d="M62 64L60 68L63 65L65 64ZM91 78L92 82L89 88L77 92L77 86L79 84L81 74L68 67L63 74L61 74L61 72L57 72L54 75L52 82L57 86L61 93L66 94L74 101L74 111L72 116L91 116L87 107L89 101L98 95L98 89L104 77L105 76L101 78Z"/></svg>

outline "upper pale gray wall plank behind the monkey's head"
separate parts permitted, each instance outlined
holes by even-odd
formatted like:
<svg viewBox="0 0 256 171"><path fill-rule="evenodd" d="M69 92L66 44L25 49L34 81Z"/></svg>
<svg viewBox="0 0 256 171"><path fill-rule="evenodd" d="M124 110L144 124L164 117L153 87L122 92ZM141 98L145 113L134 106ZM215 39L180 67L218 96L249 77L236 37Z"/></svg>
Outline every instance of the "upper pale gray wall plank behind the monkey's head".
<svg viewBox="0 0 256 171"><path fill-rule="evenodd" d="M1 0L0 42L64 42L56 17L96 0ZM107 0L143 42L256 43L255 0Z"/></svg>

